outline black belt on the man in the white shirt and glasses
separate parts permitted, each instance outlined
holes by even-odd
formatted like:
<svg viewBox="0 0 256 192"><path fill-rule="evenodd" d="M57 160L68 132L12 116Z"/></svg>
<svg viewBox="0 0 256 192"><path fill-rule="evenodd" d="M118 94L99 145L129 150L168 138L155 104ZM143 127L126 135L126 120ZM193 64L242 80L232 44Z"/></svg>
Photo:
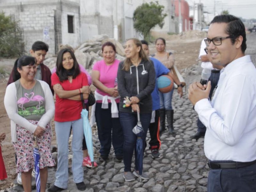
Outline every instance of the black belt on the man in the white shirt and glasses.
<svg viewBox="0 0 256 192"><path fill-rule="evenodd" d="M208 166L211 169L238 169L255 164L256 160L251 162L237 162L237 161L208 161Z"/></svg>

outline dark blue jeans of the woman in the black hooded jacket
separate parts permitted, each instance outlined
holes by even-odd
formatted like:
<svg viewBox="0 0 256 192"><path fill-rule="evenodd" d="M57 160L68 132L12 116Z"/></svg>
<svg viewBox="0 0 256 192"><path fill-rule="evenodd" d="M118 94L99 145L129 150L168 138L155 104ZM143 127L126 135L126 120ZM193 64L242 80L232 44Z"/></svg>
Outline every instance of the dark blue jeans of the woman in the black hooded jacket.
<svg viewBox="0 0 256 192"><path fill-rule="evenodd" d="M145 149L145 140L148 132L148 127L150 124L151 113L140 114L140 121L144 134L142 136L143 150ZM132 129L137 125L137 113L125 113L120 112L120 122L124 132L124 172L131 172L132 155L136 148L137 136L132 132ZM136 150L135 150L136 156ZM135 170L138 170L135 161Z"/></svg>

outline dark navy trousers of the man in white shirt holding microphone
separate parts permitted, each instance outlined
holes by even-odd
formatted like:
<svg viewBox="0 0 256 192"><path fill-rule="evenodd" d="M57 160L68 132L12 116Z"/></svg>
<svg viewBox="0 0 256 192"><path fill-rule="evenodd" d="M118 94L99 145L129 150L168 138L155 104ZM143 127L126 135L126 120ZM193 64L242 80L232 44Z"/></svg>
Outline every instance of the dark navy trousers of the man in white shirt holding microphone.
<svg viewBox="0 0 256 192"><path fill-rule="evenodd" d="M255 192L256 164L238 169L211 169L208 192Z"/></svg>

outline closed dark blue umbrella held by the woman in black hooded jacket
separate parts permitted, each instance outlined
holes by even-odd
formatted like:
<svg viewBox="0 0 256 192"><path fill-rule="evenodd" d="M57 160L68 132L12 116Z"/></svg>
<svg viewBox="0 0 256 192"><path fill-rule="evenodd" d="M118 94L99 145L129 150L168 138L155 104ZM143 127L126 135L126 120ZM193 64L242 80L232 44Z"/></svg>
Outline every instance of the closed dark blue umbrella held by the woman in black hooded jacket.
<svg viewBox="0 0 256 192"><path fill-rule="evenodd" d="M138 116L138 123L133 127L132 132L137 136L136 141L136 153L135 153L135 161L136 165L138 166L139 175L142 174L143 170L143 141L142 141L142 135L144 133L144 130L142 128L142 125L140 123L140 113L137 111Z"/></svg>

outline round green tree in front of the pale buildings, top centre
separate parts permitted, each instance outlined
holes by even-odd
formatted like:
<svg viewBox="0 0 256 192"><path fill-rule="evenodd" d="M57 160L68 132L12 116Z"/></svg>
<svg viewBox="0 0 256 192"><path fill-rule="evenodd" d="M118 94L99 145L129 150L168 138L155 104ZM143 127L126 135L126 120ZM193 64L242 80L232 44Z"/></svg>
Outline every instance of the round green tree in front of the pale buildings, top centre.
<svg viewBox="0 0 256 192"><path fill-rule="evenodd" d="M133 27L137 32L140 32L144 38L148 36L150 41L150 30L156 25L160 28L164 26L164 17L167 16L166 13L163 14L164 6L159 5L158 2L143 3L136 8L133 13Z"/></svg>

